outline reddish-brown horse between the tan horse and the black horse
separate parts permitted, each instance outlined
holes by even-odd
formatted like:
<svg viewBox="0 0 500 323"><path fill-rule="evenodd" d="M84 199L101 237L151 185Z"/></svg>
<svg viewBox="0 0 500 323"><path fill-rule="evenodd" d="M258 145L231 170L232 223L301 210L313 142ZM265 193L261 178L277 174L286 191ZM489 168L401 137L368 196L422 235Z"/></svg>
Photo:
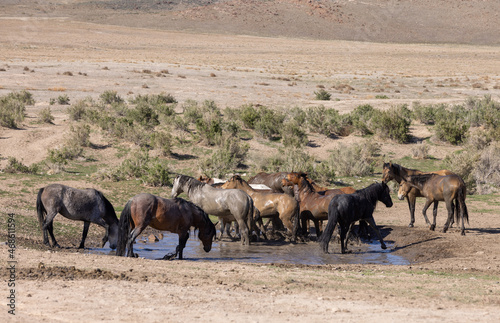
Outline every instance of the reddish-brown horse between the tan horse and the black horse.
<svg viewBox="0 0 500 323"><path fill-rule="evenodd" d="M316 236L319 237L321 235L319 221L328 218L328 204L335 195L325 195L314 191L312 185L299 173L289 173L286 180L287 181L282 181L282 183L286 184L289 182L297 186L294 195L300 205L302 233L304 235L307 234L307 220L311 220L314 222L314 227L316 228ZM337 194L345 193L338 190Z"/></svg>

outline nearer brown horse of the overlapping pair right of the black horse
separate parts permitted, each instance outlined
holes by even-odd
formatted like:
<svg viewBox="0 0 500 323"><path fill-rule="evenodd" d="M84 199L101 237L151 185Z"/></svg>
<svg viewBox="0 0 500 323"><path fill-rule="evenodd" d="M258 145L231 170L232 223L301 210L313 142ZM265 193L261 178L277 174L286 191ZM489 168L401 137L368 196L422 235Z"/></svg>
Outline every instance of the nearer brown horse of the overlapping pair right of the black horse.
<svg viewBox="0 0 500 323"><path fill-rule="evenodd" d="M469 214L467 211L467 206L465 205L467 188L460 176L455 174L445 176L437 174L407 176L399 186L398 198L400 200L404 199L404 197L407 196L409 192L411 192L412 188L417 188L426 198L424 208L422 209L422 214L424 215L425 222L430 225L430 230L434 231L434 229L436 228L438 202L444 201L446 203L446 209L448 210L448 219L446 220L446 223L443 227L443 232L446 232L450 225L453 223L453 213L454 209L456 209L455 217L457 223L461 218L461 234L465 235L464 221L467 220L467 223L469 223ZM434 203L434 220L432 224L429 222L429 219L425 214L431 203Z"/></svg>

